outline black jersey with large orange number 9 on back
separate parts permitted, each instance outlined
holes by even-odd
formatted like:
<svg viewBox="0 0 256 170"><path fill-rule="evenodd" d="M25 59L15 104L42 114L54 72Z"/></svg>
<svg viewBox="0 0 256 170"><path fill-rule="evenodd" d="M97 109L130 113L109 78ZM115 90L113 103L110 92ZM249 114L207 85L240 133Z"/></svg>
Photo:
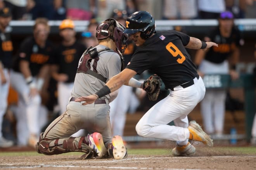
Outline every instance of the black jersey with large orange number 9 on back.
<svg viewBox="0 0 256 170"><path fill-rule="evenodd" d="M195 65L184 46L190 36L182 32L159 31L138 47L126 68L141 74L150 70L161 77L166 88L189 82L197 75Z"/></svg>

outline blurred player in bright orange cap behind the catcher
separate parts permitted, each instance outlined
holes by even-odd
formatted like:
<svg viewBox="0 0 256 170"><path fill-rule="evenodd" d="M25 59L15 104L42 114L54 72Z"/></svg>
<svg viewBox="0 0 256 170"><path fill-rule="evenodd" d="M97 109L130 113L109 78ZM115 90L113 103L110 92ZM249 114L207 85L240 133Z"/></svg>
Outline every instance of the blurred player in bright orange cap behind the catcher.
<svg viewBox="0 0 256 170"><path fill-rule="evenodd" d="M76 40L74 22L71 19L63 20L59 31L62 42L54 51L52 77L58 82L58 104L61 115L67 110L66 106L74 85L77 65L86 47Z"/></svg>

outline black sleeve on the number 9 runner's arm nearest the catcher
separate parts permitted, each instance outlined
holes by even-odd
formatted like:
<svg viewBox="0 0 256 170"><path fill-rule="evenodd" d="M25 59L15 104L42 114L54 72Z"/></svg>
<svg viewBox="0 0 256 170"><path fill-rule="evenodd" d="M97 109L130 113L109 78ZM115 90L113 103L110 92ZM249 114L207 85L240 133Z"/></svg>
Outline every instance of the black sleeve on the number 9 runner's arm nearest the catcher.
<svg viewBox="0 0 256 170"><path fill-rule="evenodd" d="M126 66L133 71L136 71L138 74L141 74L143 71L150 69L152 66L152 61L150 60L150 55L147 52L138 52L136 51L133 54L130 63Z"/></svg>

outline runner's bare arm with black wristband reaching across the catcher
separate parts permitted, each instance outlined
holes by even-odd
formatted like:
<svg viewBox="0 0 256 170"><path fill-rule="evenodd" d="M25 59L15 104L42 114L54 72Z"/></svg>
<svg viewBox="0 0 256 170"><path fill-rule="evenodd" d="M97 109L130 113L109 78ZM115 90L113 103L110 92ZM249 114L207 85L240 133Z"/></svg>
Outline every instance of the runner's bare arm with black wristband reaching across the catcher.
<svg viewBox="0 0 256 170"><path fill-rule="evenodd" d="M121 71L121 73L113 76L106 83L106 85L99 90L99 92L103 91L105 95L107 95L111 92L114 92L114 91L118 90L122 85L128 84L129 80L136 74L137 74L136 71L125 68L123 71ZM95 100L99 99L100 97L102 97L102 96L99 96L96 93L96 94L89 95L89 96L79 97L75 101L76 102L85 101L85 103L83 103L83 105L86 105L86 104L92 104L93 102L95 102Z"/></svg>

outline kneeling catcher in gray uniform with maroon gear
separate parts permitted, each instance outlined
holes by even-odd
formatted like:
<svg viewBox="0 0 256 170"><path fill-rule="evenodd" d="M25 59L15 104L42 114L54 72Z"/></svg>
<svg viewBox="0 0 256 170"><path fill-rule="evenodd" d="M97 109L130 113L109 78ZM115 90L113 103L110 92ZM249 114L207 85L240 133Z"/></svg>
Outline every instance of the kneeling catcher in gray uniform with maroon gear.
<svg viewBox="0 0 256 170"><path fill-rule="evenodd" d="M125 27L114 19L107 19L97 27L99 45L88 48L80 58L67 111L55 119L40 134L36 144L38 153L55 155L71 151L84 152L81 158L106 156L123 159L127 156L121 136L111 135L109 102L117 93L111 93L92 104L74 102L81 96L90 95L102 88L106 82L123 69L122 53L126 48ZM122 50L123 49L123 50ZM121 52L122 53L121 53ZM137 80L129 85L138 86ZM90 134L78 138L70 137L80 129Z"/></svg>

